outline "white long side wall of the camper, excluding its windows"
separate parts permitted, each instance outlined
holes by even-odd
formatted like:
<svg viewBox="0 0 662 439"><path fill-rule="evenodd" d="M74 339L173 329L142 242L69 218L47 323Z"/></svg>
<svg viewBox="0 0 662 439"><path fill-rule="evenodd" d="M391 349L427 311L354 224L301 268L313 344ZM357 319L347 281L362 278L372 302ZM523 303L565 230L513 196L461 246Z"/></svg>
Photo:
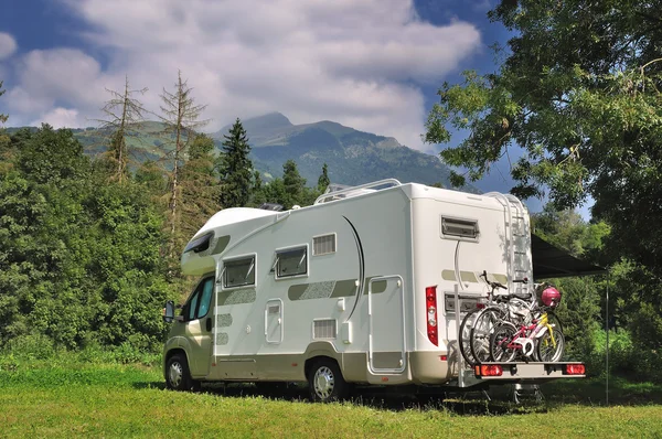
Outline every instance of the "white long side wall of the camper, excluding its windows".
<svg viewBox="0 0 662 439"><path fill-rule="evenodd" d="M223 254L213 255L220 282L206 378L306 379L306 361L325 355L351 379L389 374L408 382L409 204L396 188L274 214L268 226L254 225L258 232L241 231L244 238L235 238L237 224L216 227L216 235L231 239ZM320 236L333 236L333 253L313 251ZM306 254L305 274L278 276L279 253L298 249ZM224 285L227 263L250 255L254 285Z"/></svg>

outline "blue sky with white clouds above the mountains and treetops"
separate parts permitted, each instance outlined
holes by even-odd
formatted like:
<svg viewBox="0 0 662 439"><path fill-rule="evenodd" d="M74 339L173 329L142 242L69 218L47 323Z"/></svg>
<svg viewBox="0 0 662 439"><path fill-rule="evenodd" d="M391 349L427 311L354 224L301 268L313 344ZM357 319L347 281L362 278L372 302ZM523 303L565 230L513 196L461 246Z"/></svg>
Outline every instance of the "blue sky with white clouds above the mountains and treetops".
<svg viewBox="0 0 662 439"><path fill-rule="evenodd" d="M280 111L437 153L420 138L437 89L465 69L494 71L489 46L508 41L487 19L495 2L2 0L0 114L7 126L95 126L126 77L158 113L181 71L209 131ZM508 174L500 162L477 185L508 191Z"/></svg>

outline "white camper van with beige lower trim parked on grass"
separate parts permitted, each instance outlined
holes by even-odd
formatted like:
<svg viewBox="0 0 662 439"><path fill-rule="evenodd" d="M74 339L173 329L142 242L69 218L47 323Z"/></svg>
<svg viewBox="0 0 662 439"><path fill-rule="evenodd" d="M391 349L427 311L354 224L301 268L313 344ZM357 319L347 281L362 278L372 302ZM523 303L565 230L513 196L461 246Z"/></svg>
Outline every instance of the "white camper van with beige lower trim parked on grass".
<svg viewBox="0 0 662 439"><path fill-rule="evenodd" d="M182 254L200 282L181 315L168 307L166 381L308 382L331 400L348 384L562 377L542 363L480 376L457 350L458 319L489 290L479 275L520 292L531 261L528 214L512 195L383 180L285 212L226 208Z"/></svg>

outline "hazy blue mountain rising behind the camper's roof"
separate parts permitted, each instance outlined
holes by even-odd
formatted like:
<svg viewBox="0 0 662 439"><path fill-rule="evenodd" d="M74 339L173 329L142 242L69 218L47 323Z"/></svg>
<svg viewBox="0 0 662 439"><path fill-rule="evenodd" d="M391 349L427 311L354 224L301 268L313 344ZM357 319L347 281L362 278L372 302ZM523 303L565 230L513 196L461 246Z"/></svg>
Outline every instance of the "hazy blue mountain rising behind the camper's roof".
<svg viewBox="0 0 662 439"><path fill-rule="evenodd" d="M269 176L282 174L282 163L297 162L309 185L329 165L334 183L362 184L395 178L404 182L441 183L450 188L450 170L430 154L404 147L392 137L359 131L330 120L292 125L279 113L242 121L253 148L256 169ZM220 142L229 125L212 136ZM467 185L468 192L479 192Z"/></svg>

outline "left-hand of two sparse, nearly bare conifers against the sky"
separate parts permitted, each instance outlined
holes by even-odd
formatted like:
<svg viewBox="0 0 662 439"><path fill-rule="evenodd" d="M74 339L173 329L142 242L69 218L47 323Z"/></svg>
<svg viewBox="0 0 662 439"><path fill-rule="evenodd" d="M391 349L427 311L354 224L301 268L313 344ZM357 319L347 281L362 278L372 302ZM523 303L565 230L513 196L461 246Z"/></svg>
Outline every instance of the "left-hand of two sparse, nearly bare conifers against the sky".
<svg viewBox="0 0 662 439"><path fill-rule="evenodd" d="M102 111L105 119L99 119L100 130L110 132L110 144L107 158L111 164L111 178L121 182L129 172L127 169L129 151L127 148L127 131L138 129L145 121L147 111L140 100L134 98L134 95L143 95L147 88L131 89L129 77L125 76L124 92L119 93L106 88L110 94L110 99L106 101Z"/></svg>

